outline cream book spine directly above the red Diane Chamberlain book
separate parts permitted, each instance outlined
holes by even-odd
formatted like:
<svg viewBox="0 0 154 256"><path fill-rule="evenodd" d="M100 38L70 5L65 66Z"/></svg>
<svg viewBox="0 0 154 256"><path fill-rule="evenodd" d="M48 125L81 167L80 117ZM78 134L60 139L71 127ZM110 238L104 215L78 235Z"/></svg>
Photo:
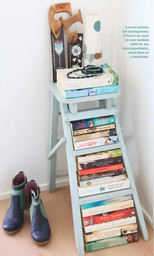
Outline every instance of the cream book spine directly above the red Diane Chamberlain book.
<svg viewBox="0 0 154 256"><path fill-rule="evenodd" d="M131 198L131 196L128 196L128 197ZM131 207L134 207L134 202L132 199L125 200L125 201L118 201L117 203L110 203L107 205L100 205L100 206L96 206L88 209L82 209L81 214L83 218L94 216L94 215L96 215L97 217L99 214L109 213L111 211L114 212L114 211L127 209Z"/></svg>

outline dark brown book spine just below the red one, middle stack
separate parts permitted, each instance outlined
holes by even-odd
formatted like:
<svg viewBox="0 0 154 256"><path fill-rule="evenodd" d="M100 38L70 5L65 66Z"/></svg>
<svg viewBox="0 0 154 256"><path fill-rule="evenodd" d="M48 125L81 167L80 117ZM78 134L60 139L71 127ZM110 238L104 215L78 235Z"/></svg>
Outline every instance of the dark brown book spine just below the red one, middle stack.
<svg viewBox="0 0 154 256"><path fill-rule="evenodd" d="M104 173L95 173L95 174L82 175L82 176L79 176L77 174L77 177L78 177L78 181L86 181L89 179L105 178L105 177L117 176L125 173L126 173L126 170L125 168L123 168L122 170L117 170L117 171L107 171Z"/></svg>

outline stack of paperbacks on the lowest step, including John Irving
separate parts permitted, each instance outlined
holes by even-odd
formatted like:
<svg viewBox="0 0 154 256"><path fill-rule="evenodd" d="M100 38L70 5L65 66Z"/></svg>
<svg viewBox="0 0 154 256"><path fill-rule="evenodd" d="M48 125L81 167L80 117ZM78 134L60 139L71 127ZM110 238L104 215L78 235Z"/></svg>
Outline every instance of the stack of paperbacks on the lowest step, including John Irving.
<svg viewBox="0 0 154 256"><path fill-rule="evenodd" d="M81 205L87 252L138 241L132 195Z"/></svg>

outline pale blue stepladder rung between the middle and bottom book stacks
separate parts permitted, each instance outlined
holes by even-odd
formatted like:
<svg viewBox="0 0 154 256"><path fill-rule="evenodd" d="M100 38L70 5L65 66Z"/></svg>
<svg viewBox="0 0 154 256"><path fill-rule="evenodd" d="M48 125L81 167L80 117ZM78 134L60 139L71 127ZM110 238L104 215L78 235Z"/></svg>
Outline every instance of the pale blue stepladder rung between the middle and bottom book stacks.
<svg viewBox="0 0 154 256"><path fill-rule="evenodd" d="M109 200L116 197L124 197L126 195L133 195L133 189L121 189L112 192L106 192L103 194L90 195L79 198L79 205L85 205L88 203L95 203L103 200Z"/></svg>

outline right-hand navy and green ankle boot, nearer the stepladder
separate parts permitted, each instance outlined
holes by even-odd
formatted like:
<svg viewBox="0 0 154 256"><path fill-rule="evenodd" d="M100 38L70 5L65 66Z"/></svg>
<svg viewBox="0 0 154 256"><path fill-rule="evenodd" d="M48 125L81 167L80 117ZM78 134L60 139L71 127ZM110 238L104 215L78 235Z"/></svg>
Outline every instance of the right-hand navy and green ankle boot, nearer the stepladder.
<svg viewBox="0 0 154 256"><path fill-rule="evenodd" d="M26 184L25 192L31 216L31 237L35 243L43 245L50 240L51 230L40 198L39 186L31 180Z"/></svg>

